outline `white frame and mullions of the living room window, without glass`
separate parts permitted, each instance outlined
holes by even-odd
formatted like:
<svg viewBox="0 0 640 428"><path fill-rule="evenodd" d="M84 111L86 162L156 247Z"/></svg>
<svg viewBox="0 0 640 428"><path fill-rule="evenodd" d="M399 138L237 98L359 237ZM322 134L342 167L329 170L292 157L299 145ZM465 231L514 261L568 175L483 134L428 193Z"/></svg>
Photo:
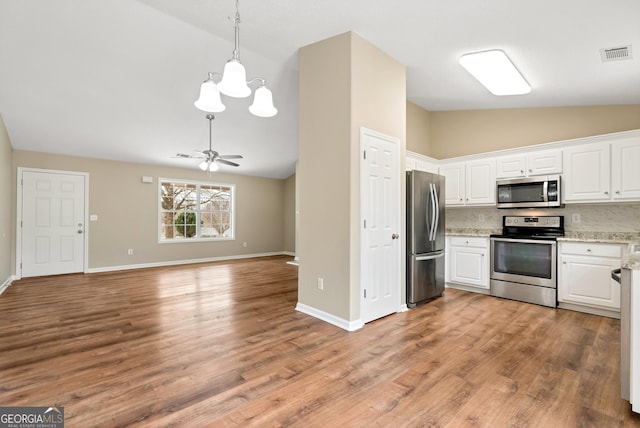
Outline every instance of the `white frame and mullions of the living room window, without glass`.
<svg viewBox="0 0 640 428"><path fill-rule="evenodd" d="M185 184L185 185L193 185L196 186L196 201L197 201L197 210L196 210L196 237L191 238L163 238L162 237L162 214L165 212L162 208L162 184L163 183L171 183L171 184ZM201 226L201 211L200 211L200 195L201 195L201 186L207 187L226 187L229 189L229 193L231 195L231 204L230 204L230 230L231 233L229 236L221 236L221 237L200 237ZM195 180L183 180L177 178L158 178L158 194L157 194L157 203L158 203L158 223L156 226L156 231L158 233L158 243L159 244L181 244L187 242L219 242L219 241L235 241L236 239L236 186L235 184L229 183L218 183L218 182L207 182L207 181L195 181Z"/></svg>

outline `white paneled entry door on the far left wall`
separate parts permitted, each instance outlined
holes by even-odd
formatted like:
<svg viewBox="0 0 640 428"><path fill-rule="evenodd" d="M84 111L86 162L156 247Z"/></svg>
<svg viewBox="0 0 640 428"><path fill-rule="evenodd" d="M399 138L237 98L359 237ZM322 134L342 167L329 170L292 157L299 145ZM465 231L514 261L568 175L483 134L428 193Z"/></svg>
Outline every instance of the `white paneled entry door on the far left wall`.
<svg viewBox="0 0 640 428"><path fill-rule="evenodd" d="M85 176L22 171L22 277L84 271Z"/></svg>

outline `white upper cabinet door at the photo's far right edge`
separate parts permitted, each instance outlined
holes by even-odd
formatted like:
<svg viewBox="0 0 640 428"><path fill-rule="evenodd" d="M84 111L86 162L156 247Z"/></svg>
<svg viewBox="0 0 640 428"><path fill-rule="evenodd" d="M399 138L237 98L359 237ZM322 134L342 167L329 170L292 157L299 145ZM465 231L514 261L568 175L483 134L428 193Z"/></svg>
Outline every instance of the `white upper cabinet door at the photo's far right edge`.
<svg viewBox="0 0 640 428"><path fill-rule="evenodd" d="M611 197L640 199L640 137L611 143Z"/></svg>

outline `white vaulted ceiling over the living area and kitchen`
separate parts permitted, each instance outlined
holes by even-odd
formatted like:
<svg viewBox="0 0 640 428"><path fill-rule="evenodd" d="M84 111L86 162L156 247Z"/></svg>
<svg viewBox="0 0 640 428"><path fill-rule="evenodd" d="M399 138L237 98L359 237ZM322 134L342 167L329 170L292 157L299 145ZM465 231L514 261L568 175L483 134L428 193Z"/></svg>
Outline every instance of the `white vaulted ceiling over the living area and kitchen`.
<svg viewBox="0 0 640 428"><path fill-rule="evenodd" d="M233 0L0 0L0 114L14 148L196 167L172 156L208 146L193 102L231 58L234 13ZM640 104L637 0L242 0L240 14L240 58L279 113L225 98L214 149L244 155L225 172L293 173L297 50L345 31L405 64L407 99L427 110ZM628 45L630 59L602 61L601 49ZM458 63L496 48L530 94L491 95Z"/></svg>

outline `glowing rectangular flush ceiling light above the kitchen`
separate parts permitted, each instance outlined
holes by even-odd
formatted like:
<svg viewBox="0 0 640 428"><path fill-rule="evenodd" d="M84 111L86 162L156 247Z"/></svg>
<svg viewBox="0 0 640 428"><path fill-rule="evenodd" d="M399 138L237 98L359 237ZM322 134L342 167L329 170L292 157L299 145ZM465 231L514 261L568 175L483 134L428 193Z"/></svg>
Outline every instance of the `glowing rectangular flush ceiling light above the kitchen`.
<svg viewBox="0 0 640 428"><path fill-rule="evenodd" d="M462 55L460 64L494 95L531 92L531 86L500 49Z"/></svg>

